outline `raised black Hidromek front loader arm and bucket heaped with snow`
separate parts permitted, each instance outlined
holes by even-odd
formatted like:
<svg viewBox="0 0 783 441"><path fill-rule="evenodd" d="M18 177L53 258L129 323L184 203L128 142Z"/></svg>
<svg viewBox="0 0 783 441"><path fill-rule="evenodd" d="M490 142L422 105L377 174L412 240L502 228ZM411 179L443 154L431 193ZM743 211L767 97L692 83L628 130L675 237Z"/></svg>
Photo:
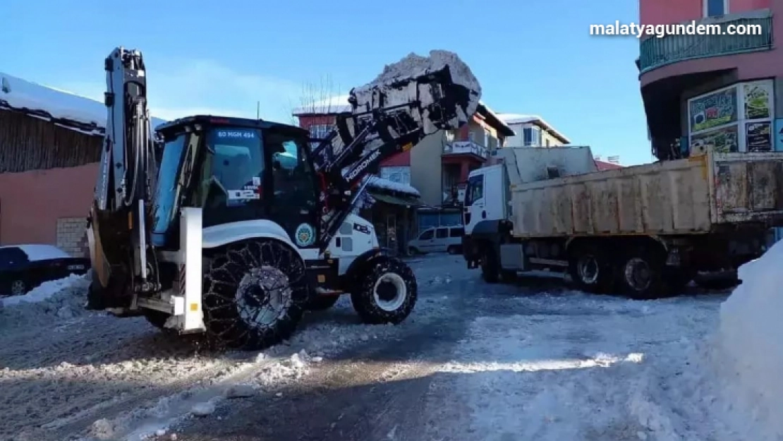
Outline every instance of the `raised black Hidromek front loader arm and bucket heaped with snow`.
<svg viewBox="0 0 783 441"><path fill-rule="evenodd" d="M352 111L337 116L334 130L313 152L321 179L324 251L355 207L382 161L410 150L425 136L467 124L481 87L456 54L411 54L387 66L375 81L352 89Z"/></svg>

